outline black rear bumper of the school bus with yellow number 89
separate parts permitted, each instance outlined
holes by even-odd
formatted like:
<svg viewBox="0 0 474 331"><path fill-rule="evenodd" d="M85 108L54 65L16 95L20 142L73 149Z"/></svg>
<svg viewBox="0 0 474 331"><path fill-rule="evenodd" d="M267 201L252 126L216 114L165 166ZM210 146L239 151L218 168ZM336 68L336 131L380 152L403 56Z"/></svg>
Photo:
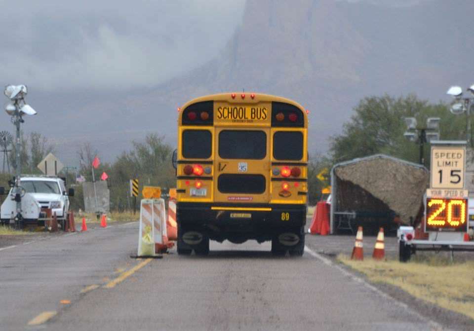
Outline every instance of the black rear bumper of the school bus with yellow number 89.
<svg viewBox="0 0 474 331"><path fill-rule="evenodd" d="M176 220L182 227L205 229L217 241L236 235L265 241L283 230L302 228L306 205L177 203Z"/></svg>

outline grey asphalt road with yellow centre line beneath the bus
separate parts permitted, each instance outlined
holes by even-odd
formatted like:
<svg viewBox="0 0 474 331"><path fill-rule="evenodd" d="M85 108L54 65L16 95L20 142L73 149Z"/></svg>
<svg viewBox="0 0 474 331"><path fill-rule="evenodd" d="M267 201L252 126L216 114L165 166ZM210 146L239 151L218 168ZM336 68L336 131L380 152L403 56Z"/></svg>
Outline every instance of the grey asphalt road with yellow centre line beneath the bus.
<svg viewBox="0 0 474 331"><path fill-rule="evenodd" d="M1 250L0 330L436 328L315 253L318 237L299 258L211 242L209 257L136 260L137 233L132 223Z"/></svg>

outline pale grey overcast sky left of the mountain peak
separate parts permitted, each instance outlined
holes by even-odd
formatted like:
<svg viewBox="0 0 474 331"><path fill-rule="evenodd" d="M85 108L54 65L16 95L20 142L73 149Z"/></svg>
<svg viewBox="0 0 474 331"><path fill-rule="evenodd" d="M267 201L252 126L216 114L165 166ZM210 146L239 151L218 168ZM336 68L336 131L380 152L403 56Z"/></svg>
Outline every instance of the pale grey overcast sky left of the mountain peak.
<svg viewBox="0 0 474 331"><path fill-rule="evenodd" d="M0 4L1 81L74 91L153 86L203 64L240 24L245 0Z"/></svg>

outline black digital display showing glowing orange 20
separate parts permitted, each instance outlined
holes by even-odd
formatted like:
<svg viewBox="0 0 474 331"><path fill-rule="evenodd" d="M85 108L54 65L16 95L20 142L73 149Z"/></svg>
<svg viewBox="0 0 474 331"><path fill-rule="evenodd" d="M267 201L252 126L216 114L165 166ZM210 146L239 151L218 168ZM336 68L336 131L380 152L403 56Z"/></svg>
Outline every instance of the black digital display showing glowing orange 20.
<svg viewBox="0 0 474 331"><path fill-rule="evenodd" d="M427 198L426 231L459 231L468 228L468 200Z"/></svg>

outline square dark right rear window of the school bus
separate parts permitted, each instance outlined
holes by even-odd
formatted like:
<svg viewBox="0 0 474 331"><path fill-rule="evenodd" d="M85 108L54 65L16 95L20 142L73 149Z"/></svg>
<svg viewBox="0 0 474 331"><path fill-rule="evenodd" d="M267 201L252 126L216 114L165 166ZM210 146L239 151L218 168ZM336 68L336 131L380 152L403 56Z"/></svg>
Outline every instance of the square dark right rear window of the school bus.
<svg viewBox="0 0 474 331"><path fill-rule="evenodd" d="M303 133L278 131L273 135L273 157L276 160L301 160L303 158Z"/></svg>

